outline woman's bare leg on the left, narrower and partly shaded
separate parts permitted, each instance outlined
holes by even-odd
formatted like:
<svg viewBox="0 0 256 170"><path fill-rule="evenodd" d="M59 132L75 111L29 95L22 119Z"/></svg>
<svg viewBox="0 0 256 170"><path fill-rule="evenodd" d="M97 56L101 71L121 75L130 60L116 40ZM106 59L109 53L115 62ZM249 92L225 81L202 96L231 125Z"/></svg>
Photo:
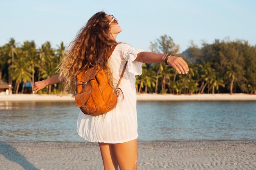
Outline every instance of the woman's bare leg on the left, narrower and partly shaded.
<svg viewBox="0 0 256 170"><path fill-rule="evenodd" d="M117 170L117 158L113 144L99 143L104 170Z"/></svg>

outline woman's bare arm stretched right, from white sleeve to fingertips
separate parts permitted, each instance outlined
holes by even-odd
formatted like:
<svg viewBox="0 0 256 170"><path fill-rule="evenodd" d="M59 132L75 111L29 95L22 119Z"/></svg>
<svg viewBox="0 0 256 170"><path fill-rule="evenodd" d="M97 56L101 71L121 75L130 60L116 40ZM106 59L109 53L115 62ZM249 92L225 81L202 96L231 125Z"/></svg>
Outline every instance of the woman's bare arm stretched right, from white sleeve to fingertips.
<svg viewBox="0 0 256 170"><path fill-rule="evenodd" d="M166 54L157 54L151 52L140 52L137 55L135 61L143 63L160 63L164 62L164 56ZM189 71L188 64L182 59L182 57L177 57L172 55L168 59L168 65L173 66L178 73L187 74Z"/></svg>

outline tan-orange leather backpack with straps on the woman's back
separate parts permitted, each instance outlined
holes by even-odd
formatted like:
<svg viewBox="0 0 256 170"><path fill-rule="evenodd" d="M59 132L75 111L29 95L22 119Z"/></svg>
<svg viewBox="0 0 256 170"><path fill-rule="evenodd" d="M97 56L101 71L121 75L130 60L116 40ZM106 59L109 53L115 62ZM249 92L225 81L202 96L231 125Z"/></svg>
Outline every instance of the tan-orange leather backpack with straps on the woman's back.
<svg viewBox="0 0 256 170"><path fill-rule="evenodd" d="M116 46L113 46L110 50L108 58L114 51L115 47ZM119 88L119 84L124 75L126 66L127 61L115 89L109 85L106 72L101 68L101 66L95 65L87 70L81 71L76 76L76 106L79 107L85 115L93 116L101 115L114 109L117 105L119 90L121 90L121 88Z"/></svg>

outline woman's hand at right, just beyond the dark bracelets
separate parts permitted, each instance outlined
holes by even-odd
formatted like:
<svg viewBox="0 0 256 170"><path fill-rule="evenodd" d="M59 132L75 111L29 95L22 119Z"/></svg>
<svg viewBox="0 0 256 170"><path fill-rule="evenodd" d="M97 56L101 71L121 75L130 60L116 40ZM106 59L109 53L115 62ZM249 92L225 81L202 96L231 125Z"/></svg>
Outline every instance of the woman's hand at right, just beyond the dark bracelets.
<svg viewBox="0 0 256 170"><path fill-rule="evenodd" d="M173 68L175 68L179 74L187 74L189 71L189 66L186 64L185 60L182 59L182 57L172 55L169 57L167 63L168 65L173 66Z"/></svg>

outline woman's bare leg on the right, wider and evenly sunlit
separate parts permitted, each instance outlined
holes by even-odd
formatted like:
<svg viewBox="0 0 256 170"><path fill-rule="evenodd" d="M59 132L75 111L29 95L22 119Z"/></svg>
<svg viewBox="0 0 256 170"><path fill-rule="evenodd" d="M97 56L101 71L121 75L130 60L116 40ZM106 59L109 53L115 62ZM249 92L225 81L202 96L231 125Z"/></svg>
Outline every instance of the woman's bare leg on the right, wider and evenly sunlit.
<svg viewBox="0 0 256 170"><path fill-rule="evenodd" d="M120 170L137 170L137 139L113 146Z"/></svg>

